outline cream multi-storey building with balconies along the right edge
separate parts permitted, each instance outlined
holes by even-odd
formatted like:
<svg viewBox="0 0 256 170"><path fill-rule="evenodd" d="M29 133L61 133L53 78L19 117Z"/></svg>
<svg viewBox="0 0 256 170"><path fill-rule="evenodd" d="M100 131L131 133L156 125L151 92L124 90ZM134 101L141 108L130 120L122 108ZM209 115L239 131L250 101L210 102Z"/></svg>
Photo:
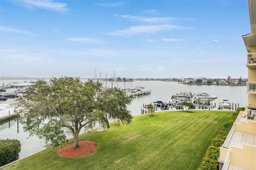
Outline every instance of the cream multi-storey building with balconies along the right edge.
<svg viewBox="0 0 256 170"><path fill-rule="evenodd" d="M220 148L219 169L222 170L256 170L256 1L248 0L248 5L251 33L243 36L248 52L247 106L237 116Z"/></svg>

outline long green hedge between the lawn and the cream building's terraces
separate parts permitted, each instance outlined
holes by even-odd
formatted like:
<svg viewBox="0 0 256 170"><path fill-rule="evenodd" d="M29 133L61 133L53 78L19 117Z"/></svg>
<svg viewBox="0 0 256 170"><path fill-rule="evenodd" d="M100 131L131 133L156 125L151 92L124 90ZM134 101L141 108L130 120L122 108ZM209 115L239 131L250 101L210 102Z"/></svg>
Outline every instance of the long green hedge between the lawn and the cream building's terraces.
<svg viewBox="0 0 256 170"><path fill-rule="evenodd" d="M203 159L202 164L198 168L198 170L218 170L219 164L218 164L218 157L220 155L220 147L223 145L230 129L232 128L233 123L236 120L237 115L240 111L244 111L244 107L237 108L236 112L233 113L230 120L223 124L221 130L218 132L218 134L212 139L211 145L206 151L206 155Z"/></svg>

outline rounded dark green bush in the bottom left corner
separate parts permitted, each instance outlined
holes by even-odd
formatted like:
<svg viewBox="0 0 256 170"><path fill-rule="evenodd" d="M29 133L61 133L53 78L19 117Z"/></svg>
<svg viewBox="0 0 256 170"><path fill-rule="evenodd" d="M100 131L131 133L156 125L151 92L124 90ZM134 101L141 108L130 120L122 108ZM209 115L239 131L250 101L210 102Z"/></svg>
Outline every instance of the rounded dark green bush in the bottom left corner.
<svg viewBox="0 0 256 170"><path fill-rule="evenodd" d="M20 150L20 141L17 139L0 139L0 166L19 159Z"/></svg>

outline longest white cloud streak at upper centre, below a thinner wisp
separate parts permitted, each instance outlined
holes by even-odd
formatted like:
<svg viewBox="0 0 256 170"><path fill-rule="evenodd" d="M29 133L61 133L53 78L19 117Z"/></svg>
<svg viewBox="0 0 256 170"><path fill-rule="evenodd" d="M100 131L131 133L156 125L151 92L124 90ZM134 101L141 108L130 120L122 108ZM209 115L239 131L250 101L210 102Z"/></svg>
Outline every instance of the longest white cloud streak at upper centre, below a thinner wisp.
<svg viewBox="0 0 256 170"><path fill-rule="evenodd" d="M185 28L180 27L179 25L170 25L170 24L164 24L164 25L137 25L132 26L127 29L123 30L115 30L113 32L110 32L110 35L114 36L129 36L129 35L135 35L137 33L155 33L159 31L165 31L165 30L174 30L174 29L191 29L191 28Z"/></svg>

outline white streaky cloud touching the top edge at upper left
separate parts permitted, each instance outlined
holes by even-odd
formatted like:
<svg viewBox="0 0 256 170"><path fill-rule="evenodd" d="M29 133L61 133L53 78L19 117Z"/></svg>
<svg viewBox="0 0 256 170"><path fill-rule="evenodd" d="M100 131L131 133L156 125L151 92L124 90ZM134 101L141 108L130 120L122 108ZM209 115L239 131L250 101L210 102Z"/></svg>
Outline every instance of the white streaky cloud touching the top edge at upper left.
<svg viewBox="0 0 256 170"><path fill-rule="evenodd" d="M30 7L44 8L50 11L66 12L67 4L61 2L53 2L52 0L20 0L19 3L23 3Z"/></svg>

